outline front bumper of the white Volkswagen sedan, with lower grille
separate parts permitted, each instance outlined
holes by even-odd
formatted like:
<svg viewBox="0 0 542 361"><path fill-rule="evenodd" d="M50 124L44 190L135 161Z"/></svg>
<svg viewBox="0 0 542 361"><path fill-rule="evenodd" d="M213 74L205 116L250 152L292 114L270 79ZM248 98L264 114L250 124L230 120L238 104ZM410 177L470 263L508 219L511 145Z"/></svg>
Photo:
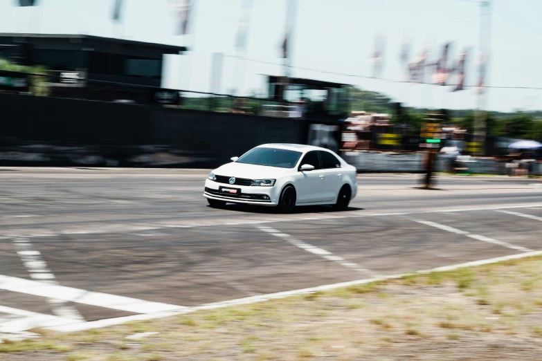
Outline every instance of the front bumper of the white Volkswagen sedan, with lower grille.
<svg viewBox="0 0 542 361"><path fill-rule="evenodd" d="M241 189L241 194L227 194L219 192L220 187ZM254 205L278 205L280 188L277 185L273 187L258 187L246 185L227 185L217 183L206 179L204 197L216 199L217 201L226 201L229 203L244 203ZM267 198L267 199L266 199Z"/></svg>

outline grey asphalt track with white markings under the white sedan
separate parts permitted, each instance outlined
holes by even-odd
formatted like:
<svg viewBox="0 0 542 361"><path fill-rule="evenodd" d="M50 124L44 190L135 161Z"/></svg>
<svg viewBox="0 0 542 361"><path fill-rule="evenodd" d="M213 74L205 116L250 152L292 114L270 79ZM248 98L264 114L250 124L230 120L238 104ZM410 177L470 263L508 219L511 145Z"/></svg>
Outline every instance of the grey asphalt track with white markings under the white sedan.
<svg viewBox="0 0 542 361"><path fill-rule="evenodd" d="M345 212L208 207L208 172L0 169L0 333L542 250L540 180L360 175Z"/></svg>

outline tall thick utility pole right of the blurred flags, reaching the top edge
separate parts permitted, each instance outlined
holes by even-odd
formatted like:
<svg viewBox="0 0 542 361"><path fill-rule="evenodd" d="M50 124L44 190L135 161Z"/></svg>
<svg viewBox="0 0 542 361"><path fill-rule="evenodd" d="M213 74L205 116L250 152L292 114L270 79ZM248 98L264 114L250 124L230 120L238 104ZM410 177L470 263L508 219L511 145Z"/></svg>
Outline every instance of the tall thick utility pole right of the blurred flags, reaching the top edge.
<svg viewBox="0 0 542 361"><path fill-rule="evenodd" d="M491 2L489 0L480 2L480 44L478 44L478 51L480 53L480 64L485 69L487 76L487 68L491 53ZM485 85L485 84L484 84ZM487 95L485 86L478 89L478 105L476 109L476 116L474 118L474 142L479 144L478 153L485 153L485 138L487 136L487 113L484 111L487 104Z"/></svg>

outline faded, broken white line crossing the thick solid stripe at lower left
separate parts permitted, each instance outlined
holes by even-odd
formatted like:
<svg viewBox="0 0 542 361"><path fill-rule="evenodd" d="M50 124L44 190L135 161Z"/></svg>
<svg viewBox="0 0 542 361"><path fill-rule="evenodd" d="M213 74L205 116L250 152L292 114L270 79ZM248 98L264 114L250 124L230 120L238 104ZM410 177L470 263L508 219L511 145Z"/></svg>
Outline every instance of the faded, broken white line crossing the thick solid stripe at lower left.
<svg viewBox="0 0 542 361"><path fill-rule="evenodd" d="M47 263L42 258L42 254L32 249L30 241L27 239L13 239L13 244L18 249L17 254L19 254L19 258L24 263L26 270L28 270L31 279L39 279L52 285L58 284L55 280L55 275L48 270ZM55 298L54 295L51 295L47 299L47 302L51 304L53 313L59 317L80 321L84 320L77 308Z"/></svg>

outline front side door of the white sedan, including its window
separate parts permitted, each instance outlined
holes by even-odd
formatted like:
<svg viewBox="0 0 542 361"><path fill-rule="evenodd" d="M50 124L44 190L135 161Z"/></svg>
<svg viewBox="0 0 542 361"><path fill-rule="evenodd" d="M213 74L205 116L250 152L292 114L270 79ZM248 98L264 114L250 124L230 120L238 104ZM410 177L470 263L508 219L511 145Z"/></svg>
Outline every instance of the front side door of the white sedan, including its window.
<svg viewBox="0 0 542 361"><path fill-rule="evenodd" d="M309 164L314 167L311 171L299 171L300 180L297 189L297 203L312 203L322 200L324 176L320 172L320 158L317 151L309 151L303 156L299 166Z"/></svg>

